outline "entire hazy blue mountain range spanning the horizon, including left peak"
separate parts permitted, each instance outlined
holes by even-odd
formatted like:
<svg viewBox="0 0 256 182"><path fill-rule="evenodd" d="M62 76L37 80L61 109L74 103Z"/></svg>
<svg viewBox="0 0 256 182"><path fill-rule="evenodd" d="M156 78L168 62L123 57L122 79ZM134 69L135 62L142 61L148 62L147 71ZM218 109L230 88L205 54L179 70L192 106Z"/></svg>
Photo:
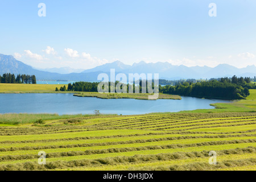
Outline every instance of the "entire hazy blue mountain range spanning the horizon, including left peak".
<svg viewBox="0 0 256 182"><path fill-rule="evenodd" d="M39 70L16 60L11 55L0 54L1 75L3 73L14 73L15 75L35 75L38 80L97 81L97 76L100 73L107 73L109 75L110 69L115 69L116 74L125 73L126 75L129 73L159 73L159 78L167 80L179 80L181 78L219 78L232 77L234 75L238 77L256 76L255 65L250 65L246 68L236 68L232 65L220 64L217 65L217 67L210 68L207 66L186 67L184 65L172 65L168 62L145 63L144 61L134 63L133 65L126 65L121 61L115 61L84 71L82 71L82 69L77 70L72 68L49 68Z"/></svg>

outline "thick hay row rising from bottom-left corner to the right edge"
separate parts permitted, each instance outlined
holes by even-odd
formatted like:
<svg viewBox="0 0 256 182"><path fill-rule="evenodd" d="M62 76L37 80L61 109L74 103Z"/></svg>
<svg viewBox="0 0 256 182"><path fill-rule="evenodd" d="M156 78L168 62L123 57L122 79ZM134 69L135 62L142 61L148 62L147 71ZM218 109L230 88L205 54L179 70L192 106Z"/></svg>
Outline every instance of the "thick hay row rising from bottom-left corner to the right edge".
<svg viewBox="0 0 256 182"><path fill-rule="evenodd" d="M248 154L255 153L256 147L236 148L230 150L216 151L218 156L229 154ZM156 154L156 155L134 155L134 156L117 156L114 158L104 159L83 159L72 161L55 161L49 162L46 165L39 165L37 162L26 162L16 164L0 165L0 171L6 170L49 170L49 169L65 169L69 167L96 167L103 165L127 164L127 163L141 163L161 160L179 160L187 158L204 158L209 157L209 151L201 152L175 152L173 154ZM255 164L255 160L250 162ZM241 164L241 163L240 163ZM250 163L250 165L252 165ZM229 165L230 166L230 165ZM169 168L171 169L171 168Z"/></svg>

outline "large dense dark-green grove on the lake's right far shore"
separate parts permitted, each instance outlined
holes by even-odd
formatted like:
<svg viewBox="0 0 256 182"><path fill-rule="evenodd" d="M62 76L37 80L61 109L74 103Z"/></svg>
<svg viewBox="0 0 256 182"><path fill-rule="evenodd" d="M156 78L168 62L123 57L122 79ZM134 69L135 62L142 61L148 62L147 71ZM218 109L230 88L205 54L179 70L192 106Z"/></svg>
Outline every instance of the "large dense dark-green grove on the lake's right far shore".
<svg viewBox="0 0 256 182"><path fill-rule="evenodd" d="M159 92L178 94L181 96L222 98L222 99L243 99L249 96L249 89L256 89L256 84L250 82L249 78L220 78L202 82L183 82L171 86L159 86Z"/></svg>

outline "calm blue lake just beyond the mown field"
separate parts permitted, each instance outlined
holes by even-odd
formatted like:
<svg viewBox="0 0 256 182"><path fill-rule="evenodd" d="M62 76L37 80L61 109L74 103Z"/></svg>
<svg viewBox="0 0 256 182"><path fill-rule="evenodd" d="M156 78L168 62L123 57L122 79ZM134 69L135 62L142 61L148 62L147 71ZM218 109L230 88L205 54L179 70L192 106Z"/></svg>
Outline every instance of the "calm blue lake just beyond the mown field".
<svg viewBox="0 0 256 182"><path fill-rule="evenodd" d="M100 99L95 97L75 97L72 93L26 93L0 94L0 113L57 113L93 114L146 114L156 112L176 112L181 110L213 109L209 104L230 102L195 97L182 100L134 100Z"/></svg>

